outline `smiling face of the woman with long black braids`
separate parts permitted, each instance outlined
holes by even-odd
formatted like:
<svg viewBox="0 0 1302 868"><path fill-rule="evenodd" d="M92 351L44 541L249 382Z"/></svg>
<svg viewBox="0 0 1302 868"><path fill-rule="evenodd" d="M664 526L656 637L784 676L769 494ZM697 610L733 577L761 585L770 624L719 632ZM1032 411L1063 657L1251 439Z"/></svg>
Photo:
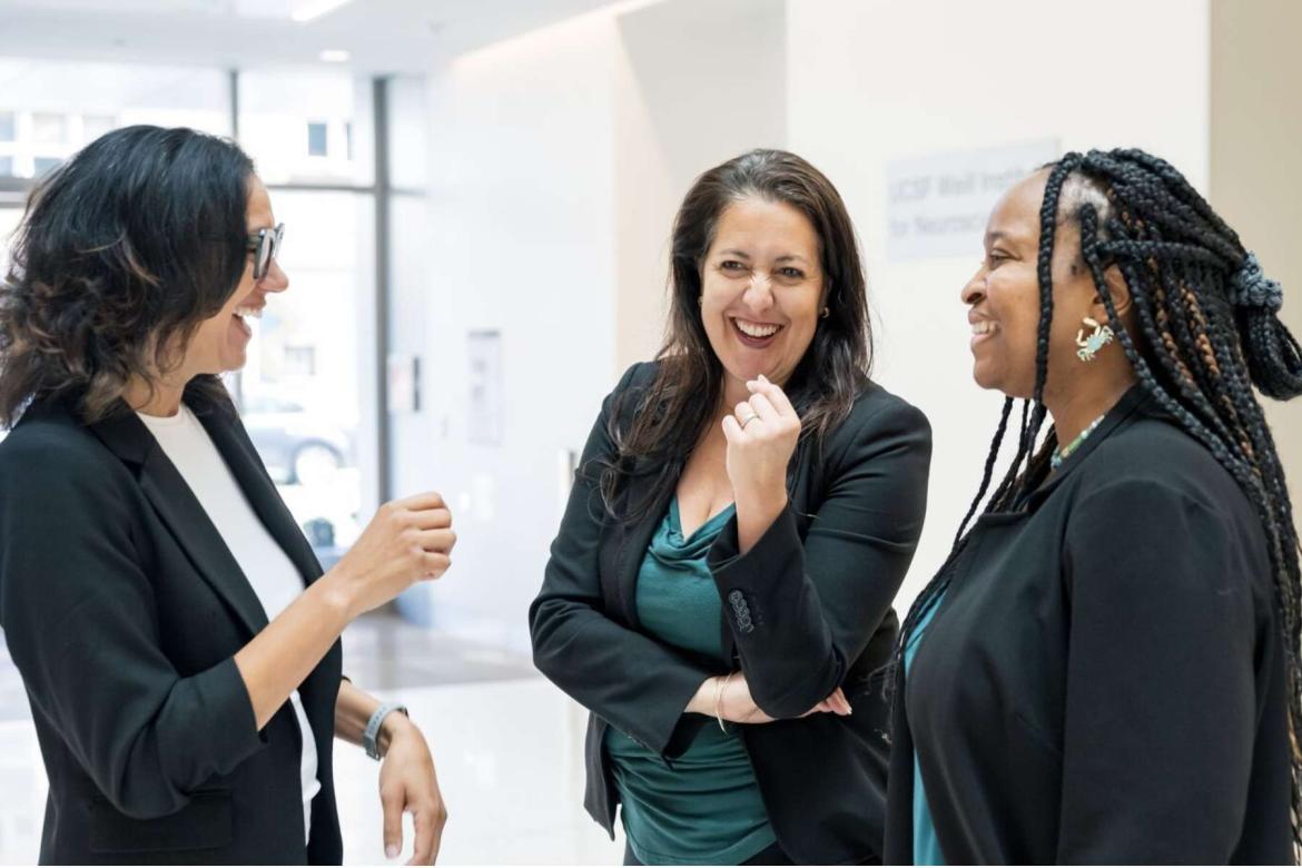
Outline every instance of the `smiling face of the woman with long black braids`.
<svg viewBox="0 0 1302 868"><path fill-rule="evenodd" d="M962 290L971 324L973 377L1014 398L1035 392L1035 344L1040 318L1036 259L1047 172L1010 189L986 224L986 256ZM1074 226L1059 221L1053 243L1053 319L1046 394L1081 372L1075 337L1086 316L1098 318L1098 290L1079 263ZM1100 320L1101 321L1101 320Z"/></svg>

